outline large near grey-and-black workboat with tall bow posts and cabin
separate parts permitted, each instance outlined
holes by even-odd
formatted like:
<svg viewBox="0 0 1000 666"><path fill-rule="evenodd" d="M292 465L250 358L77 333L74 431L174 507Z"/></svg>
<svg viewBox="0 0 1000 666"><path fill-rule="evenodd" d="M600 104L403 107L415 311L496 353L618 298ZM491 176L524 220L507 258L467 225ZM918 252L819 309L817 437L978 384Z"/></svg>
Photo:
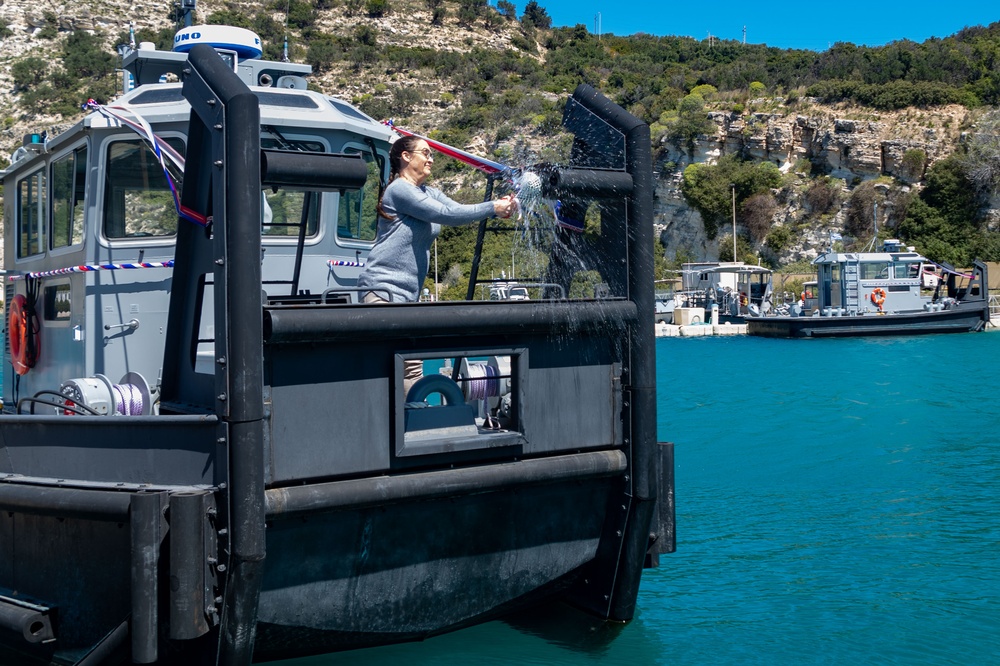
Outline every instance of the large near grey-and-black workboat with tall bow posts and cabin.
<svg viewBox="0 0 1000 666"><path fill-rule="evenodd" d="M551 601L631 619L673 549L648 127L566 101L544 195L600 233L545 281L601 298L366 305L391 130L213 30L142 45L2 174L0 650L236 665Z"/></svg>

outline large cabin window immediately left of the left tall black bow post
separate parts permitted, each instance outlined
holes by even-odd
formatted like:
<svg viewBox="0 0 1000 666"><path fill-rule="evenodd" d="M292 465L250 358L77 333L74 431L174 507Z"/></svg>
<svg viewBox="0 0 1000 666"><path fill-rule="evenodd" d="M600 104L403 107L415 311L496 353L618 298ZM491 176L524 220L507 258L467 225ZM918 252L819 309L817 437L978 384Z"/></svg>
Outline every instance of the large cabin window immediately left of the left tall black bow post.
<svg viewBox="0 0 1000 666"><path fill-rule="evenodd" d="M178 152L184 143L166 140ZM180 196L178 174L172 174ZM108 147L104 188L104 235L107 238L172 236L177 208L159 159L140 139L116 141Z"/></svg>

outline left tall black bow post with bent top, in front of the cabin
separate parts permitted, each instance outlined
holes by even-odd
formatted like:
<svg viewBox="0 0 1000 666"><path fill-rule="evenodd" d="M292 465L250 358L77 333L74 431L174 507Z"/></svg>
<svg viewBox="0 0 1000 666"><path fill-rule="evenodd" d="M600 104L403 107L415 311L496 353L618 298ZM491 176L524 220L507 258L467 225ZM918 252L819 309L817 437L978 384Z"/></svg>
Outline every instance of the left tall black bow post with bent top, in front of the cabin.
<svg viewBox="0 0 1000 666"><path fill-rule="evenodd" d="M184 96L191 103L191 125L201 124L200 136L212 146L203 178L211 180L214 406L229 464L229 557L220 567L226 580L218 663L235 666L253 658L265 556L260 107L211 47L192 48L188 64ZM192 149L205 147L189 144ZM185 194L188 184L185 178Z"/></svg>

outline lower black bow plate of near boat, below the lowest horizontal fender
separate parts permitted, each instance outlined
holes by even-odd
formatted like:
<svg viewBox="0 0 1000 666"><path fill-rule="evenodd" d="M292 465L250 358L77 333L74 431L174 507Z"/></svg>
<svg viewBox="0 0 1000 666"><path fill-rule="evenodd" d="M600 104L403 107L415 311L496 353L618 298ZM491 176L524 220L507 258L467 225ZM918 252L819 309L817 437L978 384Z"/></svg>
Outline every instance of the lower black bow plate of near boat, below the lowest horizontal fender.
<svg viewBox="0 0 1000 666"><path fill-rule="evenodd" d="M268 523L255 659L426 638L580 584L608 480Z"/></svg>

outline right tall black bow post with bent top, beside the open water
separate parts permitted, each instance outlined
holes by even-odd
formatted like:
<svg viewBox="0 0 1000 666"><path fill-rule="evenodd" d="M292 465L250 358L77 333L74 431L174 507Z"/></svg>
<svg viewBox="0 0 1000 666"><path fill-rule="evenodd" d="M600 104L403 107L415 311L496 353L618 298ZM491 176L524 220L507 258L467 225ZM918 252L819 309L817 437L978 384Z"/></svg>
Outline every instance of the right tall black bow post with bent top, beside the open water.
<svg viewBox="0 0 1000 666"><path fill-rule="evenodd" d="M609 619L627 621L635 613L661 478L657 473L656 437L652 151L649 126L593 87L579 85L573 98L624 135L625 170L632 177L625 208L628 219L627 285L629 299L635 303L639 318L629 327L630 359L628 376L624 378L625 413L629 420L627 485L631 497L625 505L627 518L608 610Z"/></svg>

